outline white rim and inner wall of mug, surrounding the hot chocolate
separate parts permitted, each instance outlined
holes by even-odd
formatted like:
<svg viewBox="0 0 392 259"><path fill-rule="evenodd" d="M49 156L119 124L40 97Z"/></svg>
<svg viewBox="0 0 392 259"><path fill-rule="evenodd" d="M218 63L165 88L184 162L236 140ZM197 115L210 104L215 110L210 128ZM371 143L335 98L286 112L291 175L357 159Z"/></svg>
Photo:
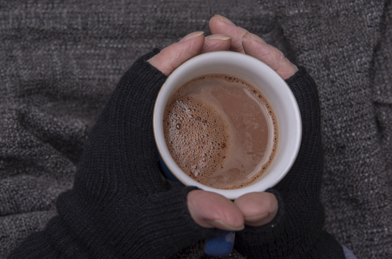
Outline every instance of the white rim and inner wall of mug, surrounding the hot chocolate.
<svg viewBox="0 0 392 259"><path fill-rule="evenodd" d="M269 100L278 122L278 147L272 163L259 179L239 189L212 188L189 177L172 158L163 135L163 113L172 94L192 78L212 73L230 74L260 89ZM260 60L232 51L204 53L177 67L158 93L154 106L153 128L158 152L164 164L180 182L185 186L197 186L205 191L219 193L232 200L245 193L263 192L277 184L294 163L301 145L302 134L298 104L285 80Z"/></svg>

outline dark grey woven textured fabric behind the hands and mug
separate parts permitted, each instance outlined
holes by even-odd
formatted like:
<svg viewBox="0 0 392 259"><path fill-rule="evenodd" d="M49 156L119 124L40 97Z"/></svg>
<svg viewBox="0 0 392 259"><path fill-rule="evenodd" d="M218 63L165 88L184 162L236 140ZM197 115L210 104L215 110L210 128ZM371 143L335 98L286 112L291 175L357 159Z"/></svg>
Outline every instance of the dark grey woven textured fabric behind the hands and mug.
<svg viewBox="0 0 392 259"><path fill-rule="evenodd" d="M325 229L392 257L390 1L0 0L0 258L55 215L116 82L214 14L263 37L319 88ZM174 258L202 258L198 245ZM230 258L241 258L235 251Z"/></svg>

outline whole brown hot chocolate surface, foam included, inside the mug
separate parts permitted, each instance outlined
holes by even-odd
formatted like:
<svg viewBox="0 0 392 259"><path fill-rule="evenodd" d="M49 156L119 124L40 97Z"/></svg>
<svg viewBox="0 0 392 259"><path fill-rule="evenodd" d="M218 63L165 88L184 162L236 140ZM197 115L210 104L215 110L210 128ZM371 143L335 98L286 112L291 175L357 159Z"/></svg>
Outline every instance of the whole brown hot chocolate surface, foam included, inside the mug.
<svg viewBox="0 0 392 259"><path fill-rule="evenodd" d="M218 189L256 181L278 144L268 100L245 80L226 74L203 75L181 86L167 102L163 132L177 165Z"/></svg>

